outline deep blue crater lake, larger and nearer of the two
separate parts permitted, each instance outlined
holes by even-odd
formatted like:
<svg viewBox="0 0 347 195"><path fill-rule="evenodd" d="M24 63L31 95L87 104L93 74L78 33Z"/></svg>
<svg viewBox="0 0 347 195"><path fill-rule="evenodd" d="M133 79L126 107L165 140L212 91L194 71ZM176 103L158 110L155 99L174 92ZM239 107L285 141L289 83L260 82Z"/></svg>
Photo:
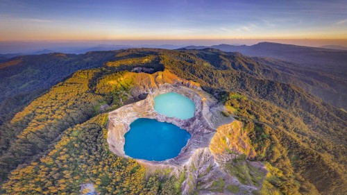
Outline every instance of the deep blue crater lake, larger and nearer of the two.
<svg viewBox="0 0 347 195"><path fill-rule="evenodd" d="M124 151L131 158L167 160L178 156L191 135L182 128L155 119L137 119L124 135Z"/></svg>

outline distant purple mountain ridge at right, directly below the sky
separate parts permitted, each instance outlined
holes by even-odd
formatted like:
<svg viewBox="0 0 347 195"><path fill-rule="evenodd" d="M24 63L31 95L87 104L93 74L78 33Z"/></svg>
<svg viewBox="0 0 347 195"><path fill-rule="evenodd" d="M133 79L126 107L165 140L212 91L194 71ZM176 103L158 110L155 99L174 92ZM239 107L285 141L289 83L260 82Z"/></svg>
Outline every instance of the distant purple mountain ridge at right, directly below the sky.
<svg viewBox="0 0 347 195"><path fill-rule="evenodd" d="M186 46L183 49L213 48L226 52L239 52L246 56L260 56L277 58L287 62L294 62L305 69L320 69L321 71L334 71L335 74L346 78L347 51L325 49L310 46L297 46L292 44L278 44L272 42L260 42L251 46L219 44L212 46ZM333 69L326 69L333 67Z"/></svg>

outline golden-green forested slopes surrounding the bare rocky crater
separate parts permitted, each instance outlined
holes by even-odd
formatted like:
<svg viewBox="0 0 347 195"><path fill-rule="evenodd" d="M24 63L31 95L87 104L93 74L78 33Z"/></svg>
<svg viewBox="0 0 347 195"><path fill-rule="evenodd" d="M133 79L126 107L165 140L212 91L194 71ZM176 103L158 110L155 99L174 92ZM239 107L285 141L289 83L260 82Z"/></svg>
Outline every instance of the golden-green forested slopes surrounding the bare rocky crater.
<svg viewBox="0 0 347 195"><path fill-rule="evenodd" d="M200 83L203 90L226 105L225 115L244 123L257 153L255 160L264 162L271 173L260 194L269 194L269 186L283 194L346 193L347 113L307 92L311 87L327 87L320 80L287 71L281 64L285 62L216 49L128 49L106 53L98 63L87 63L97 68L76 71L37 99L35 93L44 87L31 93L32 84L24 86L29 91L23 92L31 95L22 102L12 99L17 109L28 105L13 111L15 116L4 118L0 126L1 192L78 194L80 183L92 182L104 194L179 194L184 178L169 178L165 173L161 173L162 177L159 173L145 176L144 167L115 156L105 140L107 117L102 112L138 100L128 93L134 80L126 78L125 73L165 69ZM102 66L103 60L108 62ZM7 74L29 70L22 66L3 69L12 67L12 71L6 70ZM65 66L72 71L70 65ZM52 72L62 69L58 67ZM7 75L6 71L0 69L0 74ZM56 82L50 80L46 70L33 70L36 71L48 75L35 82ZM25 74L24 78L35 80L35 76ZM15 82L10 76L7 79ZM25 83L18 82L8 85L18 87ZM6 89L10 96L13 92ZM110 105L108 110L101 109L104 104Z"/></svg>

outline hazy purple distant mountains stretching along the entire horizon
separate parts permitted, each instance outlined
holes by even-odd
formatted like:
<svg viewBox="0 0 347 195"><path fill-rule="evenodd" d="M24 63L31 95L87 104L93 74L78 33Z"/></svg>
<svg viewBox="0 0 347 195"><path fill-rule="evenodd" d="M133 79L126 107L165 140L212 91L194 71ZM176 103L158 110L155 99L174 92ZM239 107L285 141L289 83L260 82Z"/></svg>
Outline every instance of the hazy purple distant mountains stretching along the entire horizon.
<svg viewBox="0 0 347 195"><path fill-rule="evenodd" d="M64 53L87 53L89 51L113 51L119 49L128 49L130 45L117 45L117 44L100 44L94 47L74 47L74 48L60 48L57 50L44 49L35 51L29 55L39 55L42 53L56 53L58 51ZM178 46L171 44L164 45L139 45L141 48L164 48L164 49L177 49ZM324 101L331 103L337 107L346 108L345 99L347 98L347 51L336 49L325 49L309 46L297 46L291 44L278 44L271 42L261 42L251 46L247 45L231 45L219 44L212 46L185 46L180 47L180 51L187 49L215 49L216 52L239 52L246 56L253 56L255 60L260 63L267 61L266 64L271 63L272 67L285 71L288 74L296 76L301 75L303 78L309 76L316 81L305 81L310 86L303 85L305 90L321 97ZM16 65L21 62L21 58L15 56L25 56L26 53L10 53L0 55L0 63L5 62L1 67ZM34 57L34 56L33 56ZM262 58L260 58L262 57ZM9 60L12 58L11 60ZM28 57L26 57L28 58ZM36 57L35 57L36 58ZM37 56L37 58L39 58ZM282 60L282 62L281 62ZM8 62L7 62L8 61ZM0 68L1 68L0 67ZM273 78L274 80L278 80ZM280 80L284 82L283 80ZM310 83L311 82L311 83ZM317 87L320 86L320 87Z"/></svg>

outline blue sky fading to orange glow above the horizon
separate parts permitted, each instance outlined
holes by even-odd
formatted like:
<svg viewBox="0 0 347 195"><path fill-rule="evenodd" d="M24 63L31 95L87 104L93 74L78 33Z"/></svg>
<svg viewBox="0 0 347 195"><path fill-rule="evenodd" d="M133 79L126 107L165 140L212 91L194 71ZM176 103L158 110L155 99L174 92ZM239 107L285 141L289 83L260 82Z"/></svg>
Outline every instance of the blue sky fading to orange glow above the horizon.
<svg viewBox="0 0 347 195"><path fill-rule="evenodd" d="M0 41L346 39L346 1L0 0Z"/></svg>

